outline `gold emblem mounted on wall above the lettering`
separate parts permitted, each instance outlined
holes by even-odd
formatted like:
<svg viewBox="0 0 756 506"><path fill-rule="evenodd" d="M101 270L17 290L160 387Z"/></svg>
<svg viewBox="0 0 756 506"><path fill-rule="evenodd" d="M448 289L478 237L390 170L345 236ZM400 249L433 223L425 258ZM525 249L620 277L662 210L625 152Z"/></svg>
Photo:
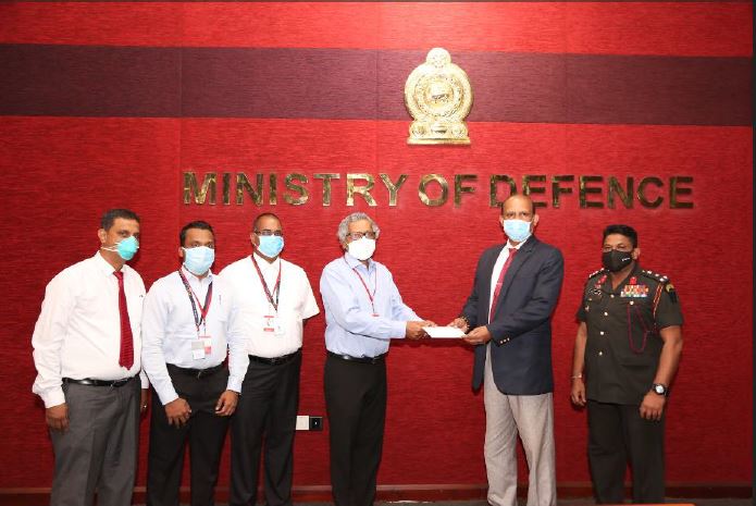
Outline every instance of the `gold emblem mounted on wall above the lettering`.
<svg viewBox="0 0 756 506"><path fill-rule="evenodd" d="M472 107L470 79L446 49L431 49L407 77L405 104L414 119L407 144L470 144L464 124Z"/></svg>

